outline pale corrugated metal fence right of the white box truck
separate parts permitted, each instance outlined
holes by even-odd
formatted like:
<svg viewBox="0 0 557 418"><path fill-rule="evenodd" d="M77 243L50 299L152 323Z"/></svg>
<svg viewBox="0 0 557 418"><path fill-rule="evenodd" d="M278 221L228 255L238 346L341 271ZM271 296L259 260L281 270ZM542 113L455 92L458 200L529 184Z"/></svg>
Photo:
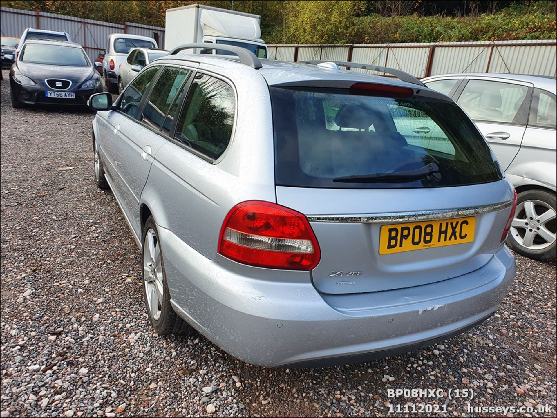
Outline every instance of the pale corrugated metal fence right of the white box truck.
<svg viewBox="0 0 557 418"><path fill-rule="evenodd" d="M359 62L397 68L418 78L450 72L557 75L555 40L381 43L346 46L268 45L267 47L269 57L277 60Z"/></svg>

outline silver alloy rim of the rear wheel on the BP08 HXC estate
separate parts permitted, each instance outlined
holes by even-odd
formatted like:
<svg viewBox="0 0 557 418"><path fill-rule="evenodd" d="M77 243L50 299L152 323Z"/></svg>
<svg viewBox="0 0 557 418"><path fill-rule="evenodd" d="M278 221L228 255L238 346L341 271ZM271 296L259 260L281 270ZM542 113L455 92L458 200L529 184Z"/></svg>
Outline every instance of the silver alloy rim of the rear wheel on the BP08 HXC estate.
<svg viewBox="0 0 557 418"><path fill-rule="evenodd" d="M163 308L163 266L157 234L150 228L143 243L143 277L150 316L157 321Z"/></svg>

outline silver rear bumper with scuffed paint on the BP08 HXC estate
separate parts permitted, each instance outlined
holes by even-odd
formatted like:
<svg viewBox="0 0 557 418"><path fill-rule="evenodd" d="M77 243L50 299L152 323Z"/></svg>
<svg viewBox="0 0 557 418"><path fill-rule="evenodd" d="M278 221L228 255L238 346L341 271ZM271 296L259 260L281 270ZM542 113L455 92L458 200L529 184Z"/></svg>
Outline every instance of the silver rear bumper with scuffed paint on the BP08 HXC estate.
<svg viewBox="0 0 557 418"><path fill-rule="evenodd" d="M327 295L307 272L292 281L291 272L207 259L167 229L159 235L175 311L224 351L260 366L361 362L457 335L495 312L516 273L503 246L482 268L446 281Z"/></svg>

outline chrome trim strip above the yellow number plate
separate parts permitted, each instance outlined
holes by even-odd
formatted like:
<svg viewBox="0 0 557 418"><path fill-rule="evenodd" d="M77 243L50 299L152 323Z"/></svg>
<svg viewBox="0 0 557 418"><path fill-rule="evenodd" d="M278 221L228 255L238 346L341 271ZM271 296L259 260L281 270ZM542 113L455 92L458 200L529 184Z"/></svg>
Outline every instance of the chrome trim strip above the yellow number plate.
<svg viewBox="0 0 557 418"><path fill-rule="evenodd" d="M378 213L365 215L307 215L309 222L345 222L345 223L394 223L419 222L422 220L461 218L482 213L496 212L512 206L512 200L469 208L423 210L421 212Z"/></svg>

